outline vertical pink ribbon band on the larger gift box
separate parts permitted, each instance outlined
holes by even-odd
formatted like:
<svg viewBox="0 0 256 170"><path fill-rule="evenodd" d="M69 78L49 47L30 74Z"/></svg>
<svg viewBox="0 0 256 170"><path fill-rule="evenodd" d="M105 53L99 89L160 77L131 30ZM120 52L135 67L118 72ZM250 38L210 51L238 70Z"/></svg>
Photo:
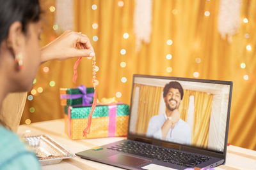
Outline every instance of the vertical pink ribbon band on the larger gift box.
<svg viewBox="0 0 256 170"><path fill-rule="evenodd" d="M116 105L109 105L108 110L108 137L113 137L116 133Z"/></svg>

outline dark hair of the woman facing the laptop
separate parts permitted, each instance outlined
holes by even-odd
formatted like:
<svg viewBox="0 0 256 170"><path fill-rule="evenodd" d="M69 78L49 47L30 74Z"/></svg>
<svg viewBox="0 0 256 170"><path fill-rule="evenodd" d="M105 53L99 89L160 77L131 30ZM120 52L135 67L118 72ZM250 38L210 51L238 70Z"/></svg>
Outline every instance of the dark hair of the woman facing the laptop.
<svg viewBox="0 0 256 170"><path fill-rule="evenodd" d="M13 22L21 22L26 33L29 22L40 20L40 13L38 0L0 0L0 43L8 36Z"/></svg>

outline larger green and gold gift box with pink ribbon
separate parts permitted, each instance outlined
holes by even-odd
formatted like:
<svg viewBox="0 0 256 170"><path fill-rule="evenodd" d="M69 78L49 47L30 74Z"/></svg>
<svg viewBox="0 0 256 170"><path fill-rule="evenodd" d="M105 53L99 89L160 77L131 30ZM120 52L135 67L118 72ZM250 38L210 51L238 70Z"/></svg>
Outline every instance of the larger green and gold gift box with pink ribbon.
<svg viewBox="0 0 256 170"><path fill-rule="evenodd" d="M71 139L85 139L83 130L88 122L91 106L64 106L65 132ZM129 106L123 103L97 105L92 115L90 133L86 138L126 136Z"/></svg>

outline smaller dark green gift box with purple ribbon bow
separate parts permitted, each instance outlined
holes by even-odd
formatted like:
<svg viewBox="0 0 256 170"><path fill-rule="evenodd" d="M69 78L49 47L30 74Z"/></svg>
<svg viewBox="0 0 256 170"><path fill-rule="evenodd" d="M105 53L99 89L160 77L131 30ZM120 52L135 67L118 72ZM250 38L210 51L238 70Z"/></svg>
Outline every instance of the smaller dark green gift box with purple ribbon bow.
<svg viewBox="0 0 256 170"><path fill-rule="evenodd" d="M61 88L60 101L62 106L74 106L79 104L92 104L93 102L93 87L86 88L80 85L77 88Z"/></svg>

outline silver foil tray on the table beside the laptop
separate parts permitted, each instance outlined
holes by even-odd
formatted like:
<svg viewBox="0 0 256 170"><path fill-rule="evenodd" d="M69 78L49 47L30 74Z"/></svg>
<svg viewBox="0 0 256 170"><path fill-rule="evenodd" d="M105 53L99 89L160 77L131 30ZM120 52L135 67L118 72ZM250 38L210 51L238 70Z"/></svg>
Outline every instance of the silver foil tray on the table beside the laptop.
<svg viewBox="0 0 256 170"><path fill-rule="evenodd" d="M63 146L46 135L26 136L24 139L31 146L42 165L57 164L62 159L73 158L75 155L68 152Z"/></svg>

